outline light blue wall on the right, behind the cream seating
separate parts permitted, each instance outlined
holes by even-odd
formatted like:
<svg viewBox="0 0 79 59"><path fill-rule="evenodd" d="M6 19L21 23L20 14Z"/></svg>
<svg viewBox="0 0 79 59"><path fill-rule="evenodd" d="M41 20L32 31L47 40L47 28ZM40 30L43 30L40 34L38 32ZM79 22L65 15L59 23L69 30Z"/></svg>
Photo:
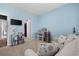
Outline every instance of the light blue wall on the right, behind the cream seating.
<svg viewBox="0 0 79 59"><path fill-rule="evenodd" d="M39 16L40 27L46 27L50 32L52 39L60 34L72 33L73 27L78 30L77 7L75 4L63 5L51 12Z"/></svg>

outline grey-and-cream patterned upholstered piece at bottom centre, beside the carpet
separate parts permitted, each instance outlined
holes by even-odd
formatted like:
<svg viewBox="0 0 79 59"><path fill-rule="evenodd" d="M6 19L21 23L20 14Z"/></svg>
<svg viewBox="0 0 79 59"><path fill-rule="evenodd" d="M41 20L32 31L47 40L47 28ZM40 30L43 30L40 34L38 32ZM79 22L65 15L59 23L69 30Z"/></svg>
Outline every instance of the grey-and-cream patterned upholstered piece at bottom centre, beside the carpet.
<svg viewBox="0 0 79 59"><path fill-rule="evenodd" d="M52 43L41 43L38 47L39 56L53 56L58 51L58 47Z"/></svg>

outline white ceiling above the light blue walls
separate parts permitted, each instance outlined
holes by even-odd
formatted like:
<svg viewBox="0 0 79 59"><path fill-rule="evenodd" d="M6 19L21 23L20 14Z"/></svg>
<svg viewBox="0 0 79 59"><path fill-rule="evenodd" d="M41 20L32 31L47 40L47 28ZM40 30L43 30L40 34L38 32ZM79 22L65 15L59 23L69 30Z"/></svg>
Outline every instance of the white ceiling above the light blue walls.
<svg viewBox="0 0 79 59"><path fill-rule="evenodd" d="M54 10L64 5L64 3L10 3L9 5L30 12L33 15L40 15Z"/></svg>

